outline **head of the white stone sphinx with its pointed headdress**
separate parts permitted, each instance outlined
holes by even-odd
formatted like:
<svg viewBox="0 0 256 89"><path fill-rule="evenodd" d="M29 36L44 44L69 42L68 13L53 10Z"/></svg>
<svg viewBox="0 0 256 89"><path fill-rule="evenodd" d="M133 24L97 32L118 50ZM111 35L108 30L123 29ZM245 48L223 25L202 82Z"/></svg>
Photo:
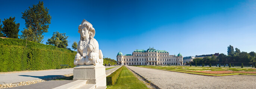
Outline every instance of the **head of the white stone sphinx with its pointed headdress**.
<svg viewBox="0 0 256 89"><path fill-rule="evenodd" d="M90 39L95 36L95 29L93 25L87 22L85 19L78 26L78 33L80 33L80 40L84 40L84 38L89 37Z"/></svg>

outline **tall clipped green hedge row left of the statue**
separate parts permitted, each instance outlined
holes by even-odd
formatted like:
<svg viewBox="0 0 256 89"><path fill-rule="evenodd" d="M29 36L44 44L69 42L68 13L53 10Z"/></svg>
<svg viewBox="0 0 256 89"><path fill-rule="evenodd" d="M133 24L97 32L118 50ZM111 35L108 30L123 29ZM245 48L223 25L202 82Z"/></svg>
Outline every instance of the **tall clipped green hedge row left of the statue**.
<svg viewBox="0 0 256 89"><path fill-rule="evenodd" d="M74 52L21 39L0 38L0 72L74 67Z"/></svg>

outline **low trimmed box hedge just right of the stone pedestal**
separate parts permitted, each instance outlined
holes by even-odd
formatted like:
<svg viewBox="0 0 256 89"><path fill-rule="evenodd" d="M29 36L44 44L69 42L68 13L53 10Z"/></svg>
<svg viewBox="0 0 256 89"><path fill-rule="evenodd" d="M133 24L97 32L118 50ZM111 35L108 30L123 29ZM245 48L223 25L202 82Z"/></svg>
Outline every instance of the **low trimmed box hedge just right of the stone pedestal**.
<svg viewBox="0 0 256 89"><path fill-rule="evenodd" d="M118 76L120 75L120 73L122 72L124 66L120 67L119 69L117 69L115 72L113 72L112 74L110 74L109 76L107 76L107 85L114 85L114 83L116 82Z"/></svg>

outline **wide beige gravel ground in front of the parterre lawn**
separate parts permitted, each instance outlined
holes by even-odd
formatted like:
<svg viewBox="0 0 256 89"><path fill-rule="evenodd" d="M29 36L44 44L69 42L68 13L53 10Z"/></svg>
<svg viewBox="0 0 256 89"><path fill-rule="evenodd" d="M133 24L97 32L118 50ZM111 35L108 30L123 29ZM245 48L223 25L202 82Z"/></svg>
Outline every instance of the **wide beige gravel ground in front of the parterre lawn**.
<svg viewBox="0 0 256 89"><path fill-rule="evenodd" d="M127 66L162 89L255 89L256 76L202 76Z"/></svg>

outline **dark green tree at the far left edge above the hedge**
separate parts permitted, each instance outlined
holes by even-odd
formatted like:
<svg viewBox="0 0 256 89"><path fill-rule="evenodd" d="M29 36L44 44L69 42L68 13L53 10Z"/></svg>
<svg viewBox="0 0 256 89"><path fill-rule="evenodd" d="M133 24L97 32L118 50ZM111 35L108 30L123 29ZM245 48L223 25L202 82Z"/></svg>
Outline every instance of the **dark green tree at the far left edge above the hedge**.
<svg viewBox="0 0 256 89"><path fill-rule="evenodd" d="M9 19L4 19L3 21L3 27L2 25L0 26L1 35L5 35L6 37L9 38L16 38L18 39L19 36L19 23L15 23L15 17L10 17Z"/></svg>

